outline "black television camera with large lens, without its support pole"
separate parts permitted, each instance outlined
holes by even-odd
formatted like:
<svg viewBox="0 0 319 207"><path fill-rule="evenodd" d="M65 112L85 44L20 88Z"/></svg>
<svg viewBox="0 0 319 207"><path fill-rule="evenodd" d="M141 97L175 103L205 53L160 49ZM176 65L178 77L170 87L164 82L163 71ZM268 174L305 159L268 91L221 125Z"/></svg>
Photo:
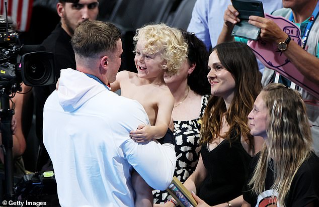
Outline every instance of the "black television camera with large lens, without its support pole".
<svg viewBox="0 0 319 207"><path fill-rule="evenodd" d="M53 53L44 52L40 45L19 45L11 24L0 17L0 87L16 92L22 81L30 86L55 84Z"/></svg>

